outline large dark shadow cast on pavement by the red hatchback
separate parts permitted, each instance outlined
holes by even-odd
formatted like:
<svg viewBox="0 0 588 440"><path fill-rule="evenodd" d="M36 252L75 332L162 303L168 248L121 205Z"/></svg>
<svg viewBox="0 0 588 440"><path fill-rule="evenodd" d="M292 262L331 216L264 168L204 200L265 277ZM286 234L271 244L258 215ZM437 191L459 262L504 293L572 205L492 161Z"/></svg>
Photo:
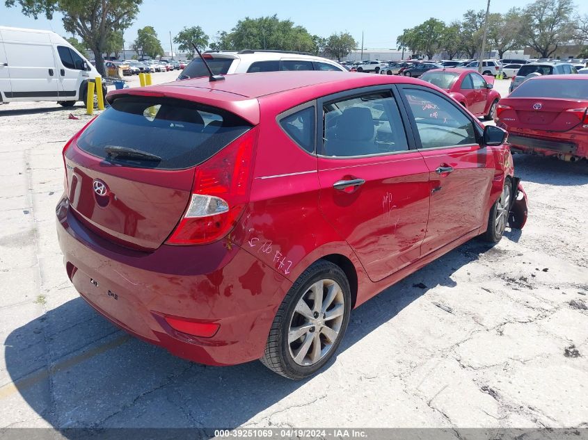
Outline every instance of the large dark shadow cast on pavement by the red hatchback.
<svg viewBox="0 0 588 440"><path fill-rule="evenodd" d="M362 304L351 313L339 352L393 320L429 288L455 286L454 272L488 250L493 252L470 241ZM184 361L116 329L81 298L15 329L5 348L10 377L3 382L14 385L0 387L0 399L13 398L10 405L17 405L22 396L59 429L237 427L313 380L286 380L257 361L229 367Z"/></svg>

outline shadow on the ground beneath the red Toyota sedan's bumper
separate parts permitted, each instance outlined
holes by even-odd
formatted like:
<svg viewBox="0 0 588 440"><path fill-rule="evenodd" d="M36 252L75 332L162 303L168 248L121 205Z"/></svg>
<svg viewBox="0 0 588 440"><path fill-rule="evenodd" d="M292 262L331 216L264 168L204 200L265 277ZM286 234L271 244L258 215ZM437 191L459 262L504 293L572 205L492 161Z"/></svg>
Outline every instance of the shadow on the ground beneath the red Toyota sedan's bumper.
<svg viewBox="0 0 588 440"><path fill-rule="evenodd" d="M575 163L559 159L514 154L514 168L525 188L525 181L554 186L578 186L588 184L588 162Z"/></svg>

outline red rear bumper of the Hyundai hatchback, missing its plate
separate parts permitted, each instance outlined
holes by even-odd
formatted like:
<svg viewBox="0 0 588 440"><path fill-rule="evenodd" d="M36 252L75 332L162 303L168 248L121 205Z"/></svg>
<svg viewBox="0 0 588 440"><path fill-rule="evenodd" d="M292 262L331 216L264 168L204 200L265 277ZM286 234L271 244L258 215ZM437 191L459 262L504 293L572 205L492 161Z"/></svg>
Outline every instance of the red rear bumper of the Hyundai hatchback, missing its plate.
<svg viewBox="0 0 588 440"><path fill-rule="evenodd" d="M143 341L200 364L232 365L262 357L285 293L284 277L226 241L161 245L151 253L120 247L56 209L67 275L100 314ZM165 316L220 325L210 338L170 327Z"/></svg>

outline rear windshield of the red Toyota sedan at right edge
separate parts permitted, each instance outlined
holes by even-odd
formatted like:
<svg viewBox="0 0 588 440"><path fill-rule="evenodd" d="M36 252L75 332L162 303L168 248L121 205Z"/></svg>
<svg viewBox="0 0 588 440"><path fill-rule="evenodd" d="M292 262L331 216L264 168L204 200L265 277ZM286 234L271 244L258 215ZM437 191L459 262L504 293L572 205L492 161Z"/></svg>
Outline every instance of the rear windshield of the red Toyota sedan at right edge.
<svg viewBox="0 0 588 440"><path fill-rule="evenodd" d="M588 99L588 81L582 79L533 79L525 81L511 98Z"/></svg>

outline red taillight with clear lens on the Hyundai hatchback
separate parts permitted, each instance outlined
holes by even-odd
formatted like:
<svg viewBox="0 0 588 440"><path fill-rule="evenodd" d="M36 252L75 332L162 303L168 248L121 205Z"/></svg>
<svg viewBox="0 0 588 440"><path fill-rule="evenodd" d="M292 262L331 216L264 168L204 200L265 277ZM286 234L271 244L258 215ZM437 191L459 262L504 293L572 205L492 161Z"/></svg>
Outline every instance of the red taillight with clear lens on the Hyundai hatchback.
<svg viewBox="0 0 588 440"><path fill-rule="evenodd" d="M168 244L212 243L235 227L248 202L256 140L253 128L196 167L188 209Z"/></svg>

